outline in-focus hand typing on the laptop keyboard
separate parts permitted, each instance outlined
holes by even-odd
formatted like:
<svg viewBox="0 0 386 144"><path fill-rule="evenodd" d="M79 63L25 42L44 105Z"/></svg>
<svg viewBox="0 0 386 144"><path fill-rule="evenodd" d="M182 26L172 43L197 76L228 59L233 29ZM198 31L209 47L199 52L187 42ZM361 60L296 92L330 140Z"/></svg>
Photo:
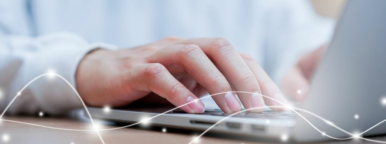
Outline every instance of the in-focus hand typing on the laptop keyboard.
<svg viewBox="0 0 386 144"><path fill-rule="evenodd" d="M286 103L283 94L258 63L251 56L237 52L223 38L171 37L126 50L98 49L81 61L76 84L89 106L124 106L151 92L174 106L181 106L198 99L197 94L203 91L215 94L232 89L261 92ZM237 95L246 109L262 107L264 103L282 106L256 94ZM241 105L234 93L212 98L225 113L240 111ZM205 110L199 100L180 109L187 113Z"/></svg>

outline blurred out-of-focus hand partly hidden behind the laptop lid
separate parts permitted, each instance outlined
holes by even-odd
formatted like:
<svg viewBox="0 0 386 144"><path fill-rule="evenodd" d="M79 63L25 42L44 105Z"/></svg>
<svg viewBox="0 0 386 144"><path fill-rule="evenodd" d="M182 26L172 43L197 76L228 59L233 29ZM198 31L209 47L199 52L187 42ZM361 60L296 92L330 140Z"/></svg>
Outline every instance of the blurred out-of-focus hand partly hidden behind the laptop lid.
<svg viewBox="0 0 386 144"><path fill-rule="evenodd" d="M295 67L289 70L282 81L283 90L296 101L303 101L310 89L310 77L322 57L325 46L303 56Z"/></svg>

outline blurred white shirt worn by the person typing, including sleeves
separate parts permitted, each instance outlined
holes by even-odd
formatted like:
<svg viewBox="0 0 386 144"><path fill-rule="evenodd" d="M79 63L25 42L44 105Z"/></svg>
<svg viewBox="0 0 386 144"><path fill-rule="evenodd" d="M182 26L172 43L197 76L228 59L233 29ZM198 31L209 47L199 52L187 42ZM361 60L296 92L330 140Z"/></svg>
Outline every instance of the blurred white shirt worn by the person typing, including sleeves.
<svg viewBox="0 0 386 144"><path fill-rule="evenodd" d="M165 36L226 38L277 82L301 55L328 42L333 27L307 0L2 0L0 108L49 70L75 86L78 63L94 48ZM44 77L7 112L63 114L81 106L63 80Z"/></svg>

